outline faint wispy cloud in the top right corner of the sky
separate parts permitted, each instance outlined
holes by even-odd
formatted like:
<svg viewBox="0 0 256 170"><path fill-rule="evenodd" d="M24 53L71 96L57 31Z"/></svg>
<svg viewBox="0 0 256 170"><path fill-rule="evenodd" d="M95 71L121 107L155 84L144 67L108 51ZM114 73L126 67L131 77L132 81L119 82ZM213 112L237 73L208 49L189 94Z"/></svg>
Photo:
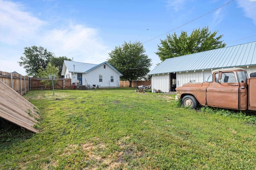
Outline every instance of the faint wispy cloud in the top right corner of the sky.
<svg viewBox="0 0 256 170"><path fill-rule="evenodd" d="M256 25L256 1L237 0L238 7L243 8L245 16L251 18Z"/></svg>

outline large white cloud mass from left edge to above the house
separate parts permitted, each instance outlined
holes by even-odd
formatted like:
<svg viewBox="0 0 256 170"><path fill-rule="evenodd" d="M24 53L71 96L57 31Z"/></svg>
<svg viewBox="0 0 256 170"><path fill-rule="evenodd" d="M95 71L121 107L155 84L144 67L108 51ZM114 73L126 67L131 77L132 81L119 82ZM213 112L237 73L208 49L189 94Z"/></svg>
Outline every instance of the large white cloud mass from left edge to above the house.
<svg viewBox="0 0 256 170"><path fill-rule="evenodd" d="M0 70L17 71L25 75L18 65L24 47L42 46L56 57L66 56L74 61L99 64L106 61L108 47L98 35L98 30L84 25L42 21L25 6L0 0ZM50 24L52 23L52 25ZM46 26L48 29L46 29ZM62 27L56 29L56 27Z"/></svg>

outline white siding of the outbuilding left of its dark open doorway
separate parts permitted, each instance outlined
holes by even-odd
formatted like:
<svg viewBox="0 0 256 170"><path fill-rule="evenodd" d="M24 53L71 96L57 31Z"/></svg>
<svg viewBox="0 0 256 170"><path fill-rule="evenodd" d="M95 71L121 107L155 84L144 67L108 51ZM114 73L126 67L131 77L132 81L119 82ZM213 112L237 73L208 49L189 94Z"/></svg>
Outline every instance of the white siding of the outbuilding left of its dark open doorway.
<svg viewBox="0 0 256 170"><path fill-rule="evenodd" d="M161 92L169 92L169 74L152 75L151 89L161 90Z"/></svg>

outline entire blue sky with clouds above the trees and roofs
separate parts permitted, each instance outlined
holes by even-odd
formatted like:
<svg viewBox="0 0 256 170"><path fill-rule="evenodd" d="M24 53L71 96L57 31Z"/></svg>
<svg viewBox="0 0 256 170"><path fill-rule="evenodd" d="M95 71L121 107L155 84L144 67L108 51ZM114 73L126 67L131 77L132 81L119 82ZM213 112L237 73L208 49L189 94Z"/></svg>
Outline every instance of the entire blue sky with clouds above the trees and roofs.
<svg viewBox="0 0 256 170"><path fill-rule="evenodd" d="M26 75L24 47L100 64L124 41L143 43L153 69L166 34L205 26L226 47L256 41L256 0L0 0L0 71Z"/></svg>

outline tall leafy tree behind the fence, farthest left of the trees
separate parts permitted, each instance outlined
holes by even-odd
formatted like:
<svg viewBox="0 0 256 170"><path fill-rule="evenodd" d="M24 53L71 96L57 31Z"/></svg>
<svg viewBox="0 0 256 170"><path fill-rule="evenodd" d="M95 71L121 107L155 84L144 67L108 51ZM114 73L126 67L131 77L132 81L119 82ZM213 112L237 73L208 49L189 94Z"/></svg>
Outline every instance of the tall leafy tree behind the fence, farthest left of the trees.
<svg viewBox="0 0 256 170"><path fill-rule="evenodd" d="M25 57L20 57L22 61L18 63L25 68L28 76L35 76L41 67L46 68L50 59L54 57L54 53L48 52L41 46L25 47L23 54Z"/></svg>

